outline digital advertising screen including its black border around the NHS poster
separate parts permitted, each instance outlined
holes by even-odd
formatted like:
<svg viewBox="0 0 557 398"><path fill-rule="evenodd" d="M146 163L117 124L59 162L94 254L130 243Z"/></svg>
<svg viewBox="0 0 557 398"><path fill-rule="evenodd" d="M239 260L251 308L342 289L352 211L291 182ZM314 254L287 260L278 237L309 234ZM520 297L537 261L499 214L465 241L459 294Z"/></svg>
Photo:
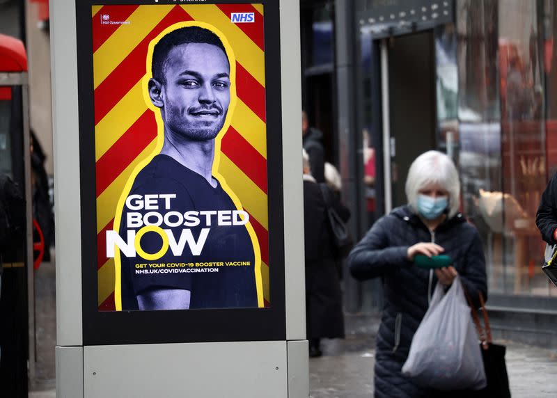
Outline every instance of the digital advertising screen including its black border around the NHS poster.
<svg viewBox="0 0 557 398"><path fill-rule="evenodd" d="M278 5L76 5L86 340L280 337Z"/></svg>

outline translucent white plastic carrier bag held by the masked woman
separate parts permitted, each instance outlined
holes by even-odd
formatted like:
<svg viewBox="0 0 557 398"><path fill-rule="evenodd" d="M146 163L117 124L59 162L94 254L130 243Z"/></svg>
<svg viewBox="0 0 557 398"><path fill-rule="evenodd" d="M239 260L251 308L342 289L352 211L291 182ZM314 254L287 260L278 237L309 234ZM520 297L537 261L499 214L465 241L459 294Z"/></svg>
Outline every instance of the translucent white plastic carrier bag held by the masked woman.
<svg viewBox="0 0 557 398"><path fill-rule="evenodd" d="M436 390L479 390L486 379L476 328L457 276L444 293L437 283L402 374Z"/></svg>

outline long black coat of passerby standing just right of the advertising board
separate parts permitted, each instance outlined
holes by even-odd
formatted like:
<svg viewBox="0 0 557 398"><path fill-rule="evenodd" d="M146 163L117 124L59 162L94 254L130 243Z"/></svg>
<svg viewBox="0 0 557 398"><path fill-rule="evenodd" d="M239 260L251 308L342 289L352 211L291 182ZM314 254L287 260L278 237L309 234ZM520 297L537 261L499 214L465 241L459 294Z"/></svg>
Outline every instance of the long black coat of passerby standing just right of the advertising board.
<svg viewBox="0 0 557 398"><path fill-rule="evenodd" d="M315 180L304 176L304 243L308 339L344 337L343 307L325 202ZM344 217L345 207L334 203Z"/></svg>

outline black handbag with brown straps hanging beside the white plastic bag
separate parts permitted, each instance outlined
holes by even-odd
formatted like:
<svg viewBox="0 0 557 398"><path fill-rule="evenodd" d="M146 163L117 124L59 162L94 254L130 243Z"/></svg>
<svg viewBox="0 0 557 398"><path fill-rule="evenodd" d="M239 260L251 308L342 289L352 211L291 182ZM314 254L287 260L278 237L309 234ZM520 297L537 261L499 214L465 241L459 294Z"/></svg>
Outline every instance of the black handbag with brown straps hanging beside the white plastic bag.
<svg viewBox="0 0 557 398"><path fill-rule="evenodd" d="M480 303L482 305L484 328L482 328L476 308L474 308L473 305L471 305L470 308L472 310L474 324L476 324L476 328L480 335L480 347L482 349L487 386L483 388L483 390L474 391L473 397L510 398L509 377L507 374L507 365L505 363L505 351L507 347L501 344L495 344L492 341L492 329L491 326L489 326L489 317L487 317L485 301L481 292Z"/></svg>

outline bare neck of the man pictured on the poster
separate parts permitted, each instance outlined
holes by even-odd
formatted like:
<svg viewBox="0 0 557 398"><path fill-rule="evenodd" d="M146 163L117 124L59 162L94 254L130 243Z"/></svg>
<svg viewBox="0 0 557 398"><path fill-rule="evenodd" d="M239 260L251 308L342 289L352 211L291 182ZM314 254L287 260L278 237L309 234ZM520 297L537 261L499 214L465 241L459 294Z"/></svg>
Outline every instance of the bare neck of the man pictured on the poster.
<svg viewBox="0 0 557 398"><path fill-rule="evenodd" d="M189 170L198 173L211 186L217 186L217 180L212 177L214 139L207 141L190 140L187 137L175 134L165 126L164 144L161 153L178 161Z"/></svg>

